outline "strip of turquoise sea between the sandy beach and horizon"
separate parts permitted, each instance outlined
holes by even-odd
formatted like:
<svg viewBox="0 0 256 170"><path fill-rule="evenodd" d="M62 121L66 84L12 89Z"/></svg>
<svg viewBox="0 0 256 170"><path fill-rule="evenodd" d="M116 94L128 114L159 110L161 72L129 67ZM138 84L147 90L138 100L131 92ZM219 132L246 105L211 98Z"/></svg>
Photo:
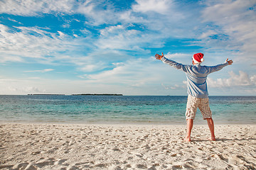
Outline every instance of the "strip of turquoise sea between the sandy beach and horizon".
<svg viewBox="0 0 256 170"><path fill-rule="evenodd" d="M0 96L0 121L186 123L187 96ZM256 96L210 96L218 124L255 124ZM195 123L205 123L198 110Z"/></svg>

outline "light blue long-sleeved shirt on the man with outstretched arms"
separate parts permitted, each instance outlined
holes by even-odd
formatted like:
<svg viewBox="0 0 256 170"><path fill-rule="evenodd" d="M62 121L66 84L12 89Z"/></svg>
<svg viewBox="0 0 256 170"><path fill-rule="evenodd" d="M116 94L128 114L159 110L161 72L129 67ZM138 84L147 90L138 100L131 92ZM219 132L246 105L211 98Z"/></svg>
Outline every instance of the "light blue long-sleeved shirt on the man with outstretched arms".
<svg viewBox="0 0 256 170"><path fill-rule="evenodd" d="M206 84L208 74L217 72L228 65L228 62L211 67L201 66L201 64L184 65L178 62L174 62L173 60L166 59L166 57L162 57L161 61L186 73L188 94L196 98L208 98L208 90Z"/></svg>

